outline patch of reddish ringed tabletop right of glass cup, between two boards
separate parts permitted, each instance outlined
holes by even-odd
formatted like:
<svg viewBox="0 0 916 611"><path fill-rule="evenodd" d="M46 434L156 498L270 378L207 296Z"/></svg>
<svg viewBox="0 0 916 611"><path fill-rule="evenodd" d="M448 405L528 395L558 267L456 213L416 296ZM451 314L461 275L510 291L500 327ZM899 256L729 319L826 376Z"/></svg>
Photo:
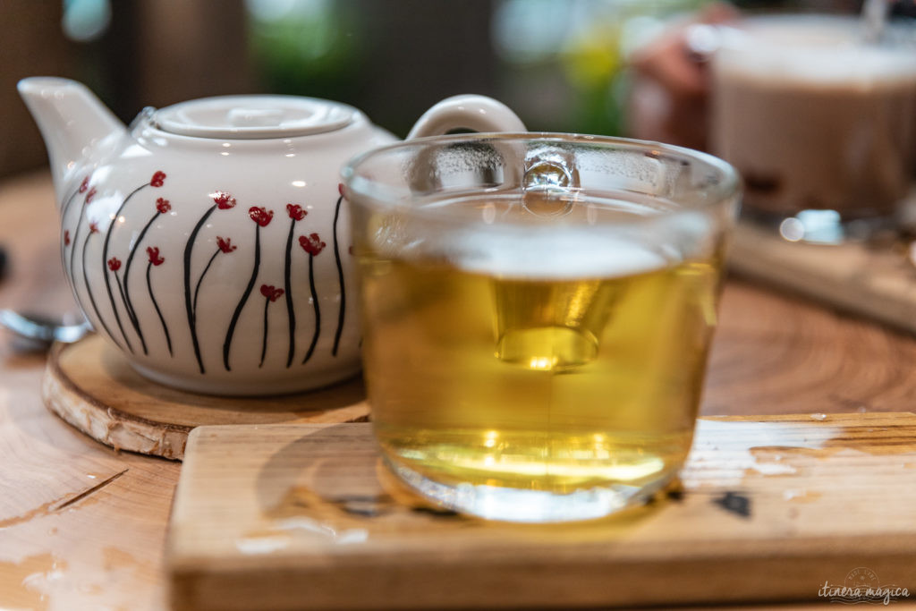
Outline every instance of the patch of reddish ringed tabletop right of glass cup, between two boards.
<svg viewBox="0 0 916 611"><path fill-rule="evenodd" d="M731 278L700 411L908 410L916 405L914 364L910 335Z"/></svg>

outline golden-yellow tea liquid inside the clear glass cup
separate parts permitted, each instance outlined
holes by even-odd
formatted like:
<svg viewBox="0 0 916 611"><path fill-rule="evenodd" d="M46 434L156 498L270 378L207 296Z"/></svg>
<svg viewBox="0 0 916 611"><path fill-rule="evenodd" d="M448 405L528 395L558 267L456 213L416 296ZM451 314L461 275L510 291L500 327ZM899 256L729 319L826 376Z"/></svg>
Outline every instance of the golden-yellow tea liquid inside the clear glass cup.
<svg viewBox="0 0 916 611"><path fill-rule="evenodd" d="M517 252L511 265L491 257L491 269L360 248L372 419L402 475L626 497L676 472L715 324L718 257L580 245L557 265Z"/></svg>

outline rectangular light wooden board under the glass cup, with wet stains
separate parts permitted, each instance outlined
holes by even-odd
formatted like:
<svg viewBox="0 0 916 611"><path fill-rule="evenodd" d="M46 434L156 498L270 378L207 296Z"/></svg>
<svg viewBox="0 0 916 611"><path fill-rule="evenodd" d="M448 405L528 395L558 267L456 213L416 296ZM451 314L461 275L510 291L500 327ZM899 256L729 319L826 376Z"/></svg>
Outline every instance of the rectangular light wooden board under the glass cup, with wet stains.
<svg viewBox="0 0 916 611"><path fill-rule="evenodd" d="M680 491L548 526L425 504L379 464L369 424L201 427L167 561L176 609L825 602L823 586L866 581L916 592L916 416L699 420Z"/></svg>

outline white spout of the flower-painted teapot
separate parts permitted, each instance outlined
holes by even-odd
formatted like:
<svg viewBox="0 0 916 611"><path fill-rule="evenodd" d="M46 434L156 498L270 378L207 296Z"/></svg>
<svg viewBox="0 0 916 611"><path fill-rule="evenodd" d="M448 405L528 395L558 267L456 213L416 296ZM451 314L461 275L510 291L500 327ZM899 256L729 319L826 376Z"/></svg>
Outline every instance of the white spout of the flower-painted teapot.
<svg viewBox="0 0 916 611"><path fill-rule="evenodd" d="M19 82L18 90L45 139L58 193L68 171L92 158L102 140L126 131L125 125L80 82L30 77Z"/></svg>

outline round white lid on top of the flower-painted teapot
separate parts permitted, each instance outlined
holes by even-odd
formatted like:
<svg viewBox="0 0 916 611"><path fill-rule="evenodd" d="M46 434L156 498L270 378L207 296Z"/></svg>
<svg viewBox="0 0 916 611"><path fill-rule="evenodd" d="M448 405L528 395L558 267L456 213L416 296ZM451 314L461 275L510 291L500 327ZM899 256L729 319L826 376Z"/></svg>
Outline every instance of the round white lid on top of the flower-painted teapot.
<svg viewBox="0 0 916 611"><path fill-rule="evenodd" d="M346 104L295 95L224 95L160 108L159 129L207 138L287 138L341 129L358 111Z"/></svg>

